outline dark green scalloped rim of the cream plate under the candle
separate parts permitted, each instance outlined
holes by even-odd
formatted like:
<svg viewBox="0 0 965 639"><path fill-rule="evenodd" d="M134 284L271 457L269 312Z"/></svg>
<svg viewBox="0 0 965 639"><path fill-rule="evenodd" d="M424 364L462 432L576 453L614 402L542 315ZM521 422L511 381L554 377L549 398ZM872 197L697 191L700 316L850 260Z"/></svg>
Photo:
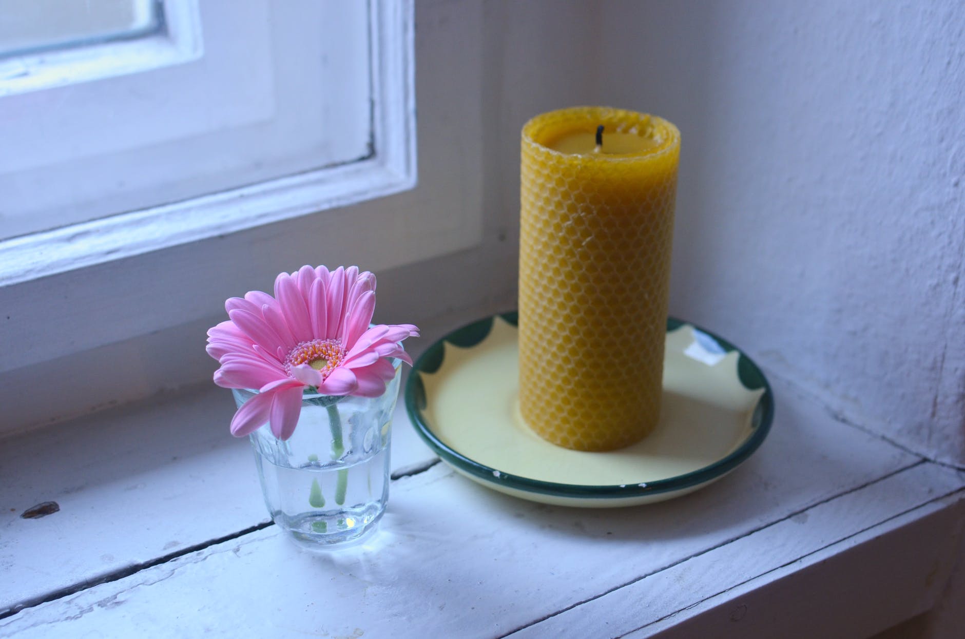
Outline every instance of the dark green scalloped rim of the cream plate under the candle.
<svg viewBox="0 0 965 639"><path fill-rule="evenodd" d="M444 357L443 343L449 342L457 347L473 347L485 339L492 328L496 317L506 319L510 324L517 324L517 314L515 311L499 313L483 319L477 319L455 330L450 331L444 337L436 340L429 346L422 355L416 359L405 382L405 410L409 420L415 427L416 432L427 443L432 451L444 461L454 466L462 472L469 473L478 477L486 484L493 486L503 486L513 488L523 492L532 492L565 499L632 499L637 497L647 497L660 493L683 490L692 486L700 486L711 482L727 473L731 472L741 462L749 458L752 453L758 450L764 441L767 433L771 429L774 420L774 393L767 377L761 372L757 363L748 357L739 348L733 346L731 342L719 337L712 331L683 319L668 318L667 332L675 332L683 326L691 326L699 333L709 337L722 347L726 352L736 350L739 353L737 360L737 375L740 382L748 389L754 390L763 388L764 392L758 399L751 417L751 435L741 444L731 451L727 456L720 458L698 470L676 475L660 480L647 482L645 486L637 484L629 485L596 485L580 486L574 484L560 484L556 482L544 482L529 477L520 477L507 473L498 468L491 468L471 458L467 458L458 451L450 448L443 443L435 433L429 428L423 418L422 409L426 405L426 389L422 382L421 373L434 373L442 365ZM421 405L420 405L421 404Z"/></svg>

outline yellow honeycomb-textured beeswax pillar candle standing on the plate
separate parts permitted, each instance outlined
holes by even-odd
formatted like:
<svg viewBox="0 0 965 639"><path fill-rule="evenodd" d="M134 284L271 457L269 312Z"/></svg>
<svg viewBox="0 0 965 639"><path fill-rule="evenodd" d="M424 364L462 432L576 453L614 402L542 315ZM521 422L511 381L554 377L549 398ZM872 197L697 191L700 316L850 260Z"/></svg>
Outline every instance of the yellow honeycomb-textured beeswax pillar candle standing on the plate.
<svg viewBox="0 0 965 639"><path fill-rule="evenodd" d="M659 419L679 151L675 125L632 111L523 127L519 408L554 444L613 450Z"/></svg>

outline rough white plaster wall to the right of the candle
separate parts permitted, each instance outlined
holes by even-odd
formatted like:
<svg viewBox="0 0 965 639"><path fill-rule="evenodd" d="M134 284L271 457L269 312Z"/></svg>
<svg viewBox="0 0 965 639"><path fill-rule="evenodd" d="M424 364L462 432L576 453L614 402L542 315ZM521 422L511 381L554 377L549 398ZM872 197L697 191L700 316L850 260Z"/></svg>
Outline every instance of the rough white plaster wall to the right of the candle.
<svg viewBox="0 0 965 639"><path fill-rule="evenodd" d="M599 11L599 101L682 131L672 312L965 465L965 5Z"/></svg>

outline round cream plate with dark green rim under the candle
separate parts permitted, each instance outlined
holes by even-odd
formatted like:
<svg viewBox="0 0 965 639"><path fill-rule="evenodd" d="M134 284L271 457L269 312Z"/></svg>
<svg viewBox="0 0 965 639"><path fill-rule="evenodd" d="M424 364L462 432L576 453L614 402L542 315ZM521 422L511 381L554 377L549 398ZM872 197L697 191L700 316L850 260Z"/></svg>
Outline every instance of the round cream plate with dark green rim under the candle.
<svg viewBox="0 0 965 639"><path fill-rule="evenodd" d="M757 449L774 411L758 367L725 340L671 319L660 424L607 453L571 451L523 423L515 314L430 347L405 390L413 424L466 477L523 499L581 507L647 504L706 486Z"/></svg>

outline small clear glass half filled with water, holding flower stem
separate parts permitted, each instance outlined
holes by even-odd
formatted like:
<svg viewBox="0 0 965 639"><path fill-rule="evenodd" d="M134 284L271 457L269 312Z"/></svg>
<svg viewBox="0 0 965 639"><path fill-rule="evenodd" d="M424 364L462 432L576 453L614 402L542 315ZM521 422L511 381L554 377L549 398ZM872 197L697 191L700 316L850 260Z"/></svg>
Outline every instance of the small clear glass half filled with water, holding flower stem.
<svg viewBox="0 0 965 639"><path fill-rule="evenodd" d="M389 499L389 442L401 362L377 398L306 392L286 441L267 424L249 435L264 503L298 545L320 549L371 533ZM234 389L238 407L255 391Z"/></svg>

